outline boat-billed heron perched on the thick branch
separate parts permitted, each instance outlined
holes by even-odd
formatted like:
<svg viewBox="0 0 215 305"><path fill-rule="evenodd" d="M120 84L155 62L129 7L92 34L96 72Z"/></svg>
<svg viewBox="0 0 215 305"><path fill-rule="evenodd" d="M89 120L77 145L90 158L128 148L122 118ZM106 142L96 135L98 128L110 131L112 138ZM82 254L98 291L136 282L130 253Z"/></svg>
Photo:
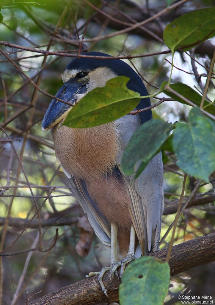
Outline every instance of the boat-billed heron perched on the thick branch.
<svg viewBox="0 0 215 305"><path fill-rule="evenodd" d="M99 52L86 54L109 56ZM64 85L55 96L74 105L89 91L105 86L106 81L119 75L130 78L127 88L147 95L140 77L122 60L75 58L62 74ZM150 99L145 98L136 109L148 106ZM126 145L134 131L152 119L151 110L125 115L100 126L76 129L62 126L71 109L53 99L42 129L52 128L57 160L95 234L105 246L110 246L110 267L89 274L99 274L98 280L107 295L102 282L106 271L110 271L110 277L118 276L120 267L121 277L128 262L158 250L164 205L162 158L161 153L155 155L136 180L120 168Z"/></svg>

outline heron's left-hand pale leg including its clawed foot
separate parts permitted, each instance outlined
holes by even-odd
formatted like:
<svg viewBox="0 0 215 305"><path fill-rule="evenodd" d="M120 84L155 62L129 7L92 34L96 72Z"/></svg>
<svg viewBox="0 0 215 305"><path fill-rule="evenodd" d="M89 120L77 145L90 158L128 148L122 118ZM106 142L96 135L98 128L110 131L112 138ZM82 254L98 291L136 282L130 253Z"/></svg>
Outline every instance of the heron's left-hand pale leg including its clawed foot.
<svg viewBox="0 0 215 305"><path fill-rule="evenodd" d="M111 235L111 241L110 241L110 267L103 267L101 271L99 272L90 272L89 275L87 275L86 277L91 277L94 275L99 275L98 276L98 281L99 284L102 288L102 291L104 292L104 294L106 295L106 297L108 298L107 295L107 289L105 289L104 283L102 281L102 278L104 276L104 274L106 273L106 271L110 271L113 268L115 268L113 274L115 273L117 278L119 278L118 273L116 271L116 269L119 267L117 260L118 260L118 256L117 256L117 235L118 235L118 226L114 223L111 223L110 226L110 235ZM118 267L117 267L118 266Z"/></svg>

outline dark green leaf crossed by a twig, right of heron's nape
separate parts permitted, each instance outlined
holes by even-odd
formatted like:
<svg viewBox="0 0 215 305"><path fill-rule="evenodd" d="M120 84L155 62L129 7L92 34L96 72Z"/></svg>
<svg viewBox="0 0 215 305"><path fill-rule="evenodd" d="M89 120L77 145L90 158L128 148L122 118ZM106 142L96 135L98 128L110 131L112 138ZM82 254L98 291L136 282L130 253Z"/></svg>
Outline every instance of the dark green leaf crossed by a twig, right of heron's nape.
<svg viewBox="0 0 215 305"><path fill-rule="evenodd" d="M163 85L163 83L162 83ZM163 86L164 87L164 86ZM176 83L176 84L170 84L170 88L172 88L174 91L178 92L180 95L183 95L186 99L189 99L189 101L193 102L195 105L200 106L202 97L199 95L199 93L196 92L196 90L192 89L186 84L183 83ZM185 102L183 99L172 93L171 91L168 91L168 89L163 89L163 92L176 101L189 105L187 102ZM210 104L208 100L205 99L204 106ZM212 104L207 107L206 109L208 112L215 114L215 105Z"/></svg>

